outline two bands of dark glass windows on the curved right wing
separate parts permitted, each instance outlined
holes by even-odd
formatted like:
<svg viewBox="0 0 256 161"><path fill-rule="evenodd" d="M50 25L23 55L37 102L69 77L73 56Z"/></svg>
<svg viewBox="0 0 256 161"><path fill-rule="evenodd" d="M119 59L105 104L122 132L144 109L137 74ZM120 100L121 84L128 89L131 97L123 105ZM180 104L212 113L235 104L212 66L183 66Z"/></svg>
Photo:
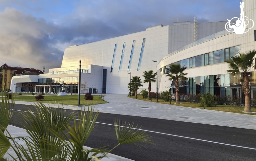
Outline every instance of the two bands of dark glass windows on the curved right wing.
<svg viewBox="0 0 256 161"><path fill-rule="evenodd" d="M185 62L186 67L194 68L194 67L199 67L204 65L224 63L225 60L228 60L230 59L230 57L236 55L240 51L240 49L241 49L241 46L238 45L238 46L198 55L192 58L184 59L184 60L175 62L175 64L182 64L184 66L184 62ZM165 66L164 68L167 68L168 66L169 65ZM256 74L255 75L251 74L251 75L255 77L255 79L253 80L256 80ZM238 78L238 77L234 77L234 78ZM231 94L230 85L234 86L234 85L237 85L237 82L243 82L243 80L235 80L234 78L231 79L230 74L190 77L186 80L187 81L185 83L186 89L182 90L184 88L184 84L180 84L179 90L180 90L180 93L184 93L184 94L185 93L205 94L207 92L210 92L212 95L230 96ZM254 82L253 80L251 80L251 85L252 85L252 82ZM255 81L255 86L256 86L256 81ZM170 90L175 91L174 81L171 84Z"/></svg>

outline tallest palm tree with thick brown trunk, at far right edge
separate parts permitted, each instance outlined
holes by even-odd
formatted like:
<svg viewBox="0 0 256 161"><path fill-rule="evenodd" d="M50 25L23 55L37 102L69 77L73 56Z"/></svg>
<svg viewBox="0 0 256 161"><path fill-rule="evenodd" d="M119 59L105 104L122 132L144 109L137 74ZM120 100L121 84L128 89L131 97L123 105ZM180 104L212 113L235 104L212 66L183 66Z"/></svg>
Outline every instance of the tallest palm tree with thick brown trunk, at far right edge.
<svg viewBox="0 0 256 161"><path fill-rule="evenodd" d="M239 55L235 55L231 57L231 59L226 60L225 62L229 65L228 73L231 76L235 76L235 74L239 74L240 70L244 71L244 93L245 93L245 110L244 112L251 112L251 103L250 103L250 79L249 72L253 65L253 57L256 54L256 50L250 50L245 53L239 53Z"/></svg>

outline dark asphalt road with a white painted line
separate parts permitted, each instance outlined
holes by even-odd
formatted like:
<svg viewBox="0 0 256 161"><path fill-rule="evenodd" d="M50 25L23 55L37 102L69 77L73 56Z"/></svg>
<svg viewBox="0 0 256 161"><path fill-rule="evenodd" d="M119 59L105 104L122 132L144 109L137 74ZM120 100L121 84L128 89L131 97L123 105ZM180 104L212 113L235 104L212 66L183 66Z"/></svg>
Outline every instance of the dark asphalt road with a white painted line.
<svg viewBox="0 0 256 161"><path fill-rule="evenodd" d="M16 104L15 109L27 110L27 106ZM147 130L146 134L153 135L151 141L157 144L138 143L141 148L121 145L112 152L132 160L256 160L255 130L106 113L100 113L97 119L100 123L85 146L108 146L110 149L116 146L118 142L113 126L115 119L139 124L142 130ZM11 124L20 127L14 121Z"/></svg>

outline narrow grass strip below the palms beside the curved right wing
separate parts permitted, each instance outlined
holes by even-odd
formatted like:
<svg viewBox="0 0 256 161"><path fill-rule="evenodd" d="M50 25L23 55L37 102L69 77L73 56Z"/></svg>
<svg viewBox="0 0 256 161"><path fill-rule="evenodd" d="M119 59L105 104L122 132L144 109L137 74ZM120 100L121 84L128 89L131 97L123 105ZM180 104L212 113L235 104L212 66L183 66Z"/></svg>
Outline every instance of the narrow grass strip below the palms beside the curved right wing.
<svg viewBox="0 0 256 161"><path fill-rule="evenodd" d="M130 97L130 96L128 96ZM134 98L134 96L132 96L131 98ZM144 101L150 101L147 98L143 98L142 95L138 95L138 98L140 100L144 100ZM156 98L153 98L153 102L157 102ZM158 103L163 103L163 104L170 104L169 102L164 102L163 99L158 99ZM192 108L201 108L203 109L203 107L199 106L199 103L188 103L188 102L180 102L180 104L176 104L175 101L171 101L172 105L178 105L178 106L184 106L184 107L192 107ZM205 107L205 109L207 110L215 110L215 111L224 111L224 112L232 112L232 113L238 113L238 114L248 114L248 115L256 115L256 113L243 113L241 111L244 111L243 106L232 106L232 105L217 105L216 107ZM256 108L252 107L251 108L252 112L256 112Z"/></svg>

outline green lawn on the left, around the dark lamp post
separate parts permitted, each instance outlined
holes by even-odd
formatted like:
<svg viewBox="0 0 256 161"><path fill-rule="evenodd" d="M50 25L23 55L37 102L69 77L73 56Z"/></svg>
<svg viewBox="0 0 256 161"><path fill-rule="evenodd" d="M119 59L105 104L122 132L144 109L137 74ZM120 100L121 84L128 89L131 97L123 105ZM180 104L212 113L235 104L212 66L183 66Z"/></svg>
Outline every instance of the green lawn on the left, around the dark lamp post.
<svg viewBox="0 0 256 161"><path fill-rule="evenodd" d="M57 95L44 95L44 100L41 102L43 103L55 103L58 102L59 104L65 105L78 105L78 95L68 95L68 96L57 96ZM84 95L80 97L80 105L90 105L93 104L101 104L101 103L108 103L107 101L103 101L99 98L99 95L93 95L93 100L85 100ZM35 97L30 94L30 96L22 96L22 97L13 97L16 101L26 101L26 102L35 102Z"/></svg>

